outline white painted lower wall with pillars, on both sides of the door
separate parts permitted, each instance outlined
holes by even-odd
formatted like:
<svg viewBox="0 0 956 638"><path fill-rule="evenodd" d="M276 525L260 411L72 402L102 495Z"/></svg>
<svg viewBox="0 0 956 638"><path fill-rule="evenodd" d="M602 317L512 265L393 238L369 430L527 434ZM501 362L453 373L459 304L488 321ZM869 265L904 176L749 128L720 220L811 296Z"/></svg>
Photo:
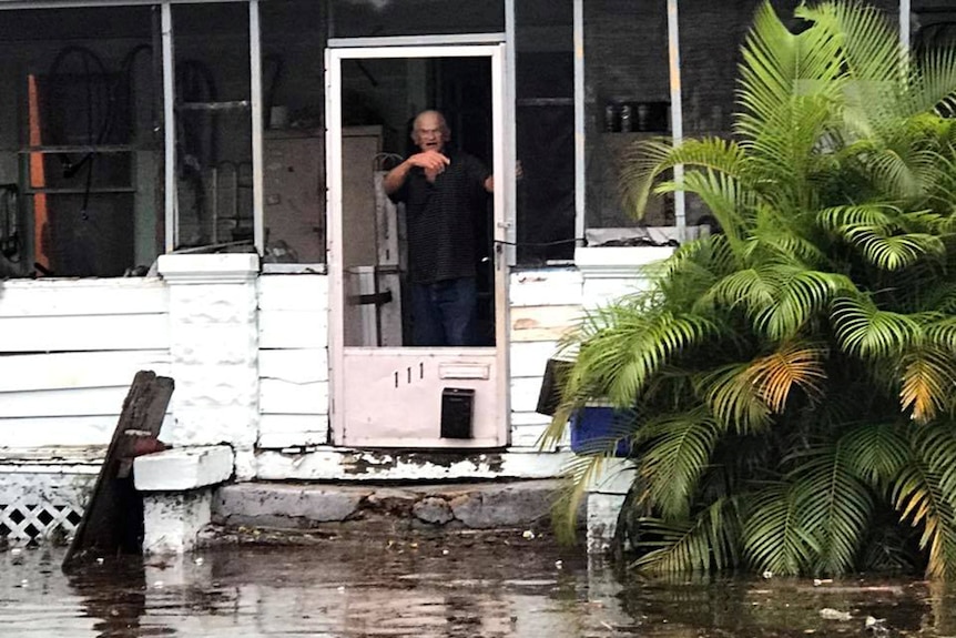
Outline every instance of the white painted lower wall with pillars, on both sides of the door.
<svg viewBox="0 0 956 638"><path fill-rule="evenodd" d="M538 449L547 361L586 297L634 285L628 264L584 276L589 267L511 274L512 445L488 463L489 476L559 469L563 454ZM231 444L240 478L348 478L359 457L373 468L365 478L376 475L367 455L329 445L325 275L260 274L255 255L240 254L166 255L160 271L164 279L0 282L0 473L85 468L109 444L135 372L152 369L176 383L161 438ZM404 476L403 463L384 463L382 476ZM446 476L437 463L419 476Z"/></svg>

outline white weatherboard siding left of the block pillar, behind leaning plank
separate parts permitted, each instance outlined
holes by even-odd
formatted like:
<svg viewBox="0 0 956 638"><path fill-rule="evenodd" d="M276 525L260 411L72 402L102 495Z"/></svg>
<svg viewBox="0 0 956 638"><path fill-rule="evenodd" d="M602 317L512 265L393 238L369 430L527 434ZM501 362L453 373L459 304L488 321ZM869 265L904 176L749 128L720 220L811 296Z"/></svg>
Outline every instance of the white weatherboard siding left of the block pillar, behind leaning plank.
<svg viewBox="0 0 956 638"><path fill-rule="evenodd" d="M167 306L154 277L0 283L0 449L106 446L135 373L170 373Z"/></svg>

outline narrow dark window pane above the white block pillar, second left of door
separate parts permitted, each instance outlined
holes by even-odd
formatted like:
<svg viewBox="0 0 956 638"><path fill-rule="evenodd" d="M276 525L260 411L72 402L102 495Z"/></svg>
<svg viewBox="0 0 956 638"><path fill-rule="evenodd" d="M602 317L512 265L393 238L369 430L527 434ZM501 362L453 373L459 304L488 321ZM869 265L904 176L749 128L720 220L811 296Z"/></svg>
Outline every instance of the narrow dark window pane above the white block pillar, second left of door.
<svg viewBox="0 0 956 638"><path fill-rule="evenodd" d="M173 7L175 247L252 243L248 6Z"/></svg>

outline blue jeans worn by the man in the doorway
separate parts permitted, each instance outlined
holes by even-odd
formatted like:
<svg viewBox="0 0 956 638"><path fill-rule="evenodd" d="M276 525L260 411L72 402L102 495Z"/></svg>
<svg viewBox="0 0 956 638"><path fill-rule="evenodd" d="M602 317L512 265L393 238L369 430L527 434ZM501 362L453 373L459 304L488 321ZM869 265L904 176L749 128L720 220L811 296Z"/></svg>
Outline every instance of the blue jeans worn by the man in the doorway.
<svg viewBox="0 0 956 638"><path fill-rule="evenodd" d="M411 284L411 340L419 346L475 345L475 277Z"/></svg>

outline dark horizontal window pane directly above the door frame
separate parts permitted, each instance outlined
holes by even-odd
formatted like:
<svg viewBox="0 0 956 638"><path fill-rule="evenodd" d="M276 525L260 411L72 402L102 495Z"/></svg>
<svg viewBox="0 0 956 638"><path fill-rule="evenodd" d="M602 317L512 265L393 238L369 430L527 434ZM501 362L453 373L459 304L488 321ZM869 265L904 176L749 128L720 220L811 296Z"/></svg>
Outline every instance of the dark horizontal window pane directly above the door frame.
<svg viewBox="0 0 956 638"><path fill-rule="evenodd" d="M502 0L330 0L330 38L500 33Z"/></svg>

